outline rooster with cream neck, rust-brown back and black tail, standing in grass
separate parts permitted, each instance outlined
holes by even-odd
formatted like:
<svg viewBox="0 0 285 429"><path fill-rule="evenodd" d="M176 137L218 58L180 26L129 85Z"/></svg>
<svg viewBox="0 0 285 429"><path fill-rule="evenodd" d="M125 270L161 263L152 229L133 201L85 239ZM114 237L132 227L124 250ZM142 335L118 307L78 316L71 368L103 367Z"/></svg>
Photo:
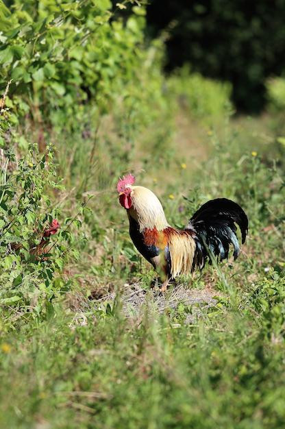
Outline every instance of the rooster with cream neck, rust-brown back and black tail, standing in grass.
<svg viewBox="0 0 285 429"><path fill-rule="evenodd" d="M192 273L196 267L203 269L214 256L226 259L230 244L234 246L234 259L238 257L235 223L245 243L248 219L234 201L226 198L208 201L195 212L184 230L178 230L167 222L158 197L143 186L134 186L134 182L132 174L119 179L119 201L127 210L129 235L136 249L160 275L163 282L160 291L166 291L177 275Z"/></svg>

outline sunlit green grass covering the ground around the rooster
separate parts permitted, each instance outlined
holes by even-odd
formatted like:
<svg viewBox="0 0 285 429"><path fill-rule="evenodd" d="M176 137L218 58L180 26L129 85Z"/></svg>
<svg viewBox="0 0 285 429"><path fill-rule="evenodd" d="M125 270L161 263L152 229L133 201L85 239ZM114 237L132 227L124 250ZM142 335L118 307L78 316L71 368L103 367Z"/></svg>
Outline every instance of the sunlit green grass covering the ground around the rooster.
<svg viewBox="0 0 285 429"><path fill-rule="evenodd" d="M189 138L184 132L180 140L177 130L164 146L162 125L130 149L115 131L100 134L86 189L95 196L82 219L88 239L64 273L77 286L39 312L2 310L2 428L284 427L284 166L273 162L274 135L268 126L271 145L262 143L262 119L232 119L214 131L183 120ZM158 143L146 146L147 140ZM80 145L92 150L92 138L76 144L75 152ZM75 210L84 178L81 157L64 167L66 214ZM129 169L159 195L173 225L212 197L245 208L249 238L234 265L207 266L193 281L180 280L198 294L210 290L214 306L171 308L170 290L160 311L149 291L138 312L123 311L123 285L149 290L153 276L134 251L114 190Z"/></svg>

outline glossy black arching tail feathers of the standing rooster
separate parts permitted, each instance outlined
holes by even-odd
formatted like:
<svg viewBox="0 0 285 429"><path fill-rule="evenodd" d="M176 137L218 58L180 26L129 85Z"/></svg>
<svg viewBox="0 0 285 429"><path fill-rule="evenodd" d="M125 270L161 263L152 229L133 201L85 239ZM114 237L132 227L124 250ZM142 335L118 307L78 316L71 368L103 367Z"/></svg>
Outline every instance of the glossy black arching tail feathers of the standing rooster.
<svg viewBox="0 0 285 429"><path fill-rule="evenodd" d="M203 204L191 217L186 230L193 230L196 234L196 250L193 260L193 269L200 269L211 255L226 259L230 244L234 245L234 259L238 257L240 246L236 236L237 223L245 243L248 230L248 219L243 209L234 201L226 198L211 199Z"/></svg>

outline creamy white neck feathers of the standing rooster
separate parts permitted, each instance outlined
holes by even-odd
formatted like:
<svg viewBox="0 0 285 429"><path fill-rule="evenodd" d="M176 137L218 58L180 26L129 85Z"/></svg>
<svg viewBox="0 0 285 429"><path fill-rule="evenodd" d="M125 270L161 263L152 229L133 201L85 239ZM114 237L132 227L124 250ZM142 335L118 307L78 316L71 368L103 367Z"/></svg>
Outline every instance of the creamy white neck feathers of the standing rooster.
<svg viewBox="0 0 285 429"><path fill-rule="evenodd" d="M132 188L132 208L129 209L129 215L132 216L140 225L140 232L145 228L158 231L164 230L169 226L166 221L164 211L160 200L156 195L143 186L129 186Z"/></svg>

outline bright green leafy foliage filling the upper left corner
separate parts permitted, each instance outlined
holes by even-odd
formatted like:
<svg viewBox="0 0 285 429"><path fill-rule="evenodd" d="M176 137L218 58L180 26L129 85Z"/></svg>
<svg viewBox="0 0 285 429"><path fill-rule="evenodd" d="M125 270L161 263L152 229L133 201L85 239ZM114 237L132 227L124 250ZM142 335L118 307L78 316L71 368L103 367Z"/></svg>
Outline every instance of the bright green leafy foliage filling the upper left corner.
<svg viewBox="0 0 285 429"><path fill-rule="evenodd" d="M123 23L110 8L109 0L15 0L8 10L1 0L0 89L12 79L14 122L32 113L38 122L44 115L45 122L62 123L58 110L73 117L92 99L106 112L118 95L129 97L129 82L139 82L145 62L152 62L140 49L145 12L136 7Z"/></svg>

